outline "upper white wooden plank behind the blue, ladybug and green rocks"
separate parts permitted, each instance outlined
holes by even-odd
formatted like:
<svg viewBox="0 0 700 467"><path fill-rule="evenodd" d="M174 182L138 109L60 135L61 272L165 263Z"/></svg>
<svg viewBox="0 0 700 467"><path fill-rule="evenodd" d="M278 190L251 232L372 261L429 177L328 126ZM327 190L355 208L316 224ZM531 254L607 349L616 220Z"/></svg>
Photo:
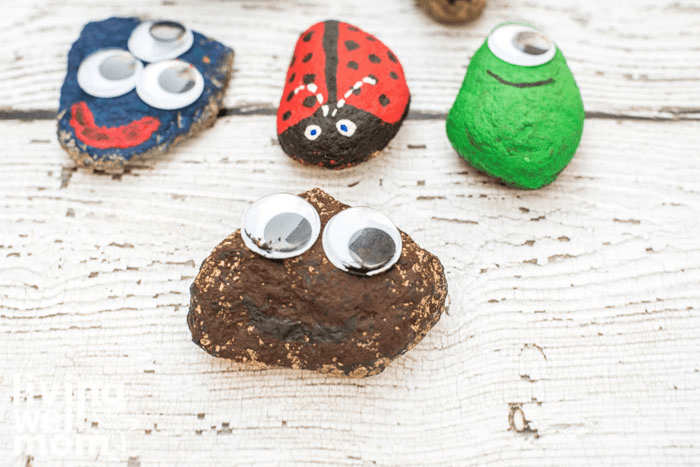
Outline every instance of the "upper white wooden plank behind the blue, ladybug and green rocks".
<svg viewBox="0 0 700 467"><path fill-rule="evenodd" d="M691 0L491 1L477 22L457 27L437 24L403 0L15 3L0 18L5 114L55 110L71 43L85 22L110 15L177 19L233 46L229 108L273 112L298 34L332 17L360 25L394 49L406 70L414 112L445 113L469 57L489 30L523 19L548 31L564 50L589 116L700 118L700 10Z"/></svg>

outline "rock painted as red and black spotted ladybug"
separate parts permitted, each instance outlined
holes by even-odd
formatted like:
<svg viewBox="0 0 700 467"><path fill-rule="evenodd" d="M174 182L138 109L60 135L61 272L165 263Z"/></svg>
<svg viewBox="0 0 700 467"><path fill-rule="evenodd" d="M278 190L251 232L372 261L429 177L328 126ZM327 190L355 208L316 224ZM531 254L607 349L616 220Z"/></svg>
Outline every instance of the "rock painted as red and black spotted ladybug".
<svg viewBox="0 0 700 467"><path fill-rule="evenodd" d="M297 41L277 111L282 149L342 169L378 154L399 131L411 95L396 55L379 39L324 21Z"/></svg>

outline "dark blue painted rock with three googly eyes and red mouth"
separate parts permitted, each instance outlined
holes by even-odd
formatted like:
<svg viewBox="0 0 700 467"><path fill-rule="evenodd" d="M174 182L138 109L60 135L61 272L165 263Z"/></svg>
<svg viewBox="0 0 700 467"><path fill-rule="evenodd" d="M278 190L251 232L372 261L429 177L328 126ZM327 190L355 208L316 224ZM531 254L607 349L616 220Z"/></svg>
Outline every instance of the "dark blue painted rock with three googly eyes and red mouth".
<svg viewBox="0 0 700 467"><path fill-rule="evenodd" d="M68 53L58 140L78 166L122 172L216 121L233 50L174 21L88 23Z"/></svg>

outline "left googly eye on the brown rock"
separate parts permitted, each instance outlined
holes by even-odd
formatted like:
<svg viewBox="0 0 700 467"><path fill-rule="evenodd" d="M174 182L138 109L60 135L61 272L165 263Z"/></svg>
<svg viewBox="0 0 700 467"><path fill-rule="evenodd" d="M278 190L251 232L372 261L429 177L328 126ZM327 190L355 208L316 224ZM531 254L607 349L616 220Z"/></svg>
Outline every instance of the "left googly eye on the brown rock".
<svg viewBox="0 0 700 467"><path fill-rule="evenodd" d="M243 216L241 236L251 251L271 259L299 256L321 231L316 209L303 198L276 193L260 198Z"/></svg>

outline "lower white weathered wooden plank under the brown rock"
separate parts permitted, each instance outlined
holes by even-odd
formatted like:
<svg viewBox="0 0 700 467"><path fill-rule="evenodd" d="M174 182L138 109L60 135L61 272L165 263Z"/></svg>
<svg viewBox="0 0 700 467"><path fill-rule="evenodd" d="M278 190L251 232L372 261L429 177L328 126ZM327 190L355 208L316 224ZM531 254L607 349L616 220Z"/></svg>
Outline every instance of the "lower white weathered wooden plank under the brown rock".
<svg viewBox="0 0 700 467"><path fill-rule="evenodd" d="M475 173L438 119L332 172L287 158L274 116L224 117L116 179L75 171L53 122L5 122L4 465L698 464L699 129L588 121L559 180L524 192ZM376 377L246 371L190 342L202 259L258 196L312 186L386 212L446 267L449 314ZM67 432L112 444L14 453L15 416L62 423L67 384L123 388Z"/></svg>

